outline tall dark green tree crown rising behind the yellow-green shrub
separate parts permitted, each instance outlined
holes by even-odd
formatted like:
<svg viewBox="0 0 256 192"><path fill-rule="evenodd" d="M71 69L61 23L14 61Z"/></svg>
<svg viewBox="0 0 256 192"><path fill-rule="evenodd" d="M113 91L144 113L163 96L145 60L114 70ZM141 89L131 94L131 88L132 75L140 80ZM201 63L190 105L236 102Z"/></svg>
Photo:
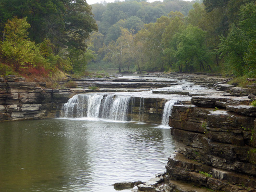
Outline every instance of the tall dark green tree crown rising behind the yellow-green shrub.
<svg viewBox="0 0 256 192"><path fill-rule="evenodd" d="M1 24L14 16L26 17L30 40L41 43L48 38L56 52L66 46L85 50L85 39L97 30L85 0L1 0L0 15Z"/></svg>

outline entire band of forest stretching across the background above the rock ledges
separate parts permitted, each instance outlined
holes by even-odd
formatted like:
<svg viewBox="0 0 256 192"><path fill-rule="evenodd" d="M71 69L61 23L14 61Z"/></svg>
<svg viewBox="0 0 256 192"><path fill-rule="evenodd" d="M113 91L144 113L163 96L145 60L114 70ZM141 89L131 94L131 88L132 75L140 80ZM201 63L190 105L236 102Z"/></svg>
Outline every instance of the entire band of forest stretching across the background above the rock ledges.
<svg viewBox="0 0 256 192"><path fill-rule="evenodd" d="M256 77L255 0L1 0L0 75L207 72Z"/></svg>

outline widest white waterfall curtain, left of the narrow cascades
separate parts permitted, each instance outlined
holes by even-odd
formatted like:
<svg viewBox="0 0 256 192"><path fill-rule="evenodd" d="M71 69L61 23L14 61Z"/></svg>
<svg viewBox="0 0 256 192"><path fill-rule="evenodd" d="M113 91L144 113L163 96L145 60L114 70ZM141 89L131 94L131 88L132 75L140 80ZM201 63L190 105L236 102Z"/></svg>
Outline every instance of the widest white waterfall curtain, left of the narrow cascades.
<svg viewBox="0 0 256 192"><path fill-rule="evenodd" d="M131 97L103 94L78 94L73 96L62 108L65 118L105 118L127 120Z"/></svg>

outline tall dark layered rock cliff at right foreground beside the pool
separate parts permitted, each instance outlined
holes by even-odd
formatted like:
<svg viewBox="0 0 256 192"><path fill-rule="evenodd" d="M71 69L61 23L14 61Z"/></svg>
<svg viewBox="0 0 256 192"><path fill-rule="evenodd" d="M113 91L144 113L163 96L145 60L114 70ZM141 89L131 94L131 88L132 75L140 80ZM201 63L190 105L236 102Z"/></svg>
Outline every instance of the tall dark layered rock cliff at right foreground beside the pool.
<svg viewBox="0 0 256 192"><path fill-rule="evenodd" d="M232 105L218 109L216 102ZM177 153L166 166L170 186L179 180L215 191L256 191L256 115L255 108L240 105L247 102L195 96L194 105L173 106L169 125Z"/></svg>

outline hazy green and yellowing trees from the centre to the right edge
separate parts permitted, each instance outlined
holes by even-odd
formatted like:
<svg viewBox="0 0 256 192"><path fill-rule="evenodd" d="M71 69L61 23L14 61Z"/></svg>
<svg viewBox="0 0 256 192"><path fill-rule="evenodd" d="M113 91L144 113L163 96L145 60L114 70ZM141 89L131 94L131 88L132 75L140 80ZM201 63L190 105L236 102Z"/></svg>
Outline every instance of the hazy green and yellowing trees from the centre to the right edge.
<svg viewBox="0 0 256 192"><path fill-rule="evenodd" d="M256 77L255 1L194 1L188 12L190 4L185 3L126 0L92 5L99 31L92 39L98 57L90 67Z"/></svg>

